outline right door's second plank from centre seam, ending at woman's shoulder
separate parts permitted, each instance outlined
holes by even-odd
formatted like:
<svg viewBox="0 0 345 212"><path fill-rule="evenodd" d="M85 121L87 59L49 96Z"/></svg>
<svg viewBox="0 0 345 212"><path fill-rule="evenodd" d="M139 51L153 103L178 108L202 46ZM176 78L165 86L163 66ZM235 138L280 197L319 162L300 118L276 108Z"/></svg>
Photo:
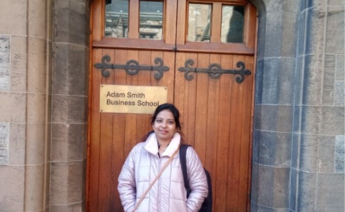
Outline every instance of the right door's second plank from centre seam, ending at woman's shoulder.
<svg viewBox="0 0 345 212"><path fill-rule="evenodd" d="M198 68L209 66L209 54L198 54ZM197 98L195 117L195 150L204 166L206 163L206 132L207 99L208 99L208 74L197 73Z"/></svg>

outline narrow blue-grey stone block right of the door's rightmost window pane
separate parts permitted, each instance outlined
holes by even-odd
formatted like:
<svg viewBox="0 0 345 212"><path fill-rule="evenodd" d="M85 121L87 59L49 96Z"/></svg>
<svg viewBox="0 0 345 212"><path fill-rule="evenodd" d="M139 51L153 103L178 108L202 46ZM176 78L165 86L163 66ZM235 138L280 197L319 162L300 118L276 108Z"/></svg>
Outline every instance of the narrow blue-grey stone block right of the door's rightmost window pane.
<svg viewBox="0 0 345 212"><path fill-rule="evenodd" d="M265 57L280 57L282 38L282 18L279 12L268 13L266 15Z"/></svg>

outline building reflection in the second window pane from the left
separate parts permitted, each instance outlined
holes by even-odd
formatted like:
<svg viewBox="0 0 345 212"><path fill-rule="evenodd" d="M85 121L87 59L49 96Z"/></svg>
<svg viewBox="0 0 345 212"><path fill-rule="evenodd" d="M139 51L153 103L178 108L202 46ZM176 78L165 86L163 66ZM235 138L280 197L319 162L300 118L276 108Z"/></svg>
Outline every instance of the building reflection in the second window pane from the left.
<svg viewBox="0 0 345 212"><path fill-rule="evenodd" d="M140 38L162 39L163 2L140 1Z"/></svg>

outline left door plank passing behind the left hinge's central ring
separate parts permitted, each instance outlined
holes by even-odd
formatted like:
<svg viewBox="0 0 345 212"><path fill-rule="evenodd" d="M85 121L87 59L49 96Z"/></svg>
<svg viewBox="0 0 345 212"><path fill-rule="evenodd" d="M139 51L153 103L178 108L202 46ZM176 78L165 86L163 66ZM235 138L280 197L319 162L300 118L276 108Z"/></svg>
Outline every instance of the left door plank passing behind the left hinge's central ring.
<svg viewBox="0 0 345 212"><path fill-rule="evenodd" d="M128 50L127 61L139 59L139 52L135 50ZM138 85L138 75L129 75L126 77L127 85ZM125 123L125 157L129 154L131 149L136 145L137 141L137 115L136 114L126 114Z"/></svg>

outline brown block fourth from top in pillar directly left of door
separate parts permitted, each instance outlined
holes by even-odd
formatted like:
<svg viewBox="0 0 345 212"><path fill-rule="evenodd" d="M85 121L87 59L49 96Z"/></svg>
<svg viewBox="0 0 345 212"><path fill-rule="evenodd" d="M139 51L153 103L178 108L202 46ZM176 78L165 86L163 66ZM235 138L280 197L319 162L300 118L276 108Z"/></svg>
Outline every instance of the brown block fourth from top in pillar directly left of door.
<svg viewBox="0 0 345 212"><path fill-rule="evenodd" d="M85 124L53 124L52 160L75 161L84 159Z"/></svg>

